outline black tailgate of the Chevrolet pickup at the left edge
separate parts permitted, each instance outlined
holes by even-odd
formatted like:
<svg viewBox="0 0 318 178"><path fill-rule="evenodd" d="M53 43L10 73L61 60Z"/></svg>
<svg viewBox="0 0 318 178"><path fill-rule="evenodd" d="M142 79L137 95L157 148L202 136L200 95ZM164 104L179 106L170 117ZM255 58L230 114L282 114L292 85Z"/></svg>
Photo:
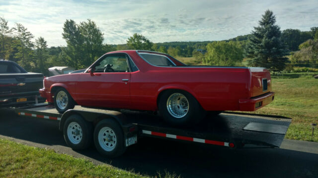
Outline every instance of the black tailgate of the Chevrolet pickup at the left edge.
<svg viewBox="0 0 318 178"><path fill-rule="evenodd" d="M43 88L43 74L0 75L0 97L37 94L41 88Z"/></svg>

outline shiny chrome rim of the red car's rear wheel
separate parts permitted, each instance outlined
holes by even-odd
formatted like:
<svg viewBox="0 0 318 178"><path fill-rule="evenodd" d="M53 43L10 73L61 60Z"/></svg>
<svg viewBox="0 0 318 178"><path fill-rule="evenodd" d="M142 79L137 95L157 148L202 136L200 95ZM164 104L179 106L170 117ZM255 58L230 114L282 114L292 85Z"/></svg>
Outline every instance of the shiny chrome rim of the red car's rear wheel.
<svg viewBox="0 0 318 178"><path fill-rule="evenodd" d="M169 114L175 118L182 118L189 111L189 101L181 93L173 93L168 97L167 110Z"/></svg>

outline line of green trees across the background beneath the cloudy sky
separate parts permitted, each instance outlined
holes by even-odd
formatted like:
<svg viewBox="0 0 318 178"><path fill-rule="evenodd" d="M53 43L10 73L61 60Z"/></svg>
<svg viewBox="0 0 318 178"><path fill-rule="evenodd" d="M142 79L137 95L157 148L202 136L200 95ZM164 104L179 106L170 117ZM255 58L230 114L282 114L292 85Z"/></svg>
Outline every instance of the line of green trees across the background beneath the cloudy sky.
<svg viewBox="0 0 318 178"><path fill-rule="evenodd" d="M124 45L104 44L104 34L90 19L77 24L66 20L63 26L66 46L48 47L43 37L34 39L22 24L9 28L0 17L0 58L17 62L27 71L48 74L53 66L87 68L102 54L124 49L153 50L175 57L194 57L203 65L242 65L281 71L286 63L318 63L318 27L302 32L281 31L272 11L266 10L251 34L224 41L153 43L133 34ZM290 60L286 56L291 55Z"/></svg>

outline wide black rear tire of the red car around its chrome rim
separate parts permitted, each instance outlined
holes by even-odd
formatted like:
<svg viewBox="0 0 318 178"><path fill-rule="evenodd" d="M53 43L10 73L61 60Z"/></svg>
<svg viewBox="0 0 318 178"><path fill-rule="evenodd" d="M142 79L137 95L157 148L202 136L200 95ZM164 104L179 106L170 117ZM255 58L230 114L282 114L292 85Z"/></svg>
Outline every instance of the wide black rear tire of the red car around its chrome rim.
<svg viewBox="0 0 318 178"><path fill-rule="evenodd" d="M174 93L183 94L188 101L189 109L186 115L181 118L177 118L171 115L167 108L168 98ZM163 120L172 125L190 125L199 123L204 119L206 115L206 111L190 93L177 89L163 91L162 95L159 98L158 108L160 115L163 117Z"/></svg>

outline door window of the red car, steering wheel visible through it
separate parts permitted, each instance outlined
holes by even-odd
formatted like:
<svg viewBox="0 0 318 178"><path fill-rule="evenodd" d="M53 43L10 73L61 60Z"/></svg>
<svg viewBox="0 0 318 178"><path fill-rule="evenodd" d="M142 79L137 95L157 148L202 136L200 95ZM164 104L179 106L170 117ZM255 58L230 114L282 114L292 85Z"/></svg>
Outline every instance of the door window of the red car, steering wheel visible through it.
<svg viewBox="0 0 318 178"><path fill-rule="evenodd" d="M99 63L96 63L95 72L130 72L126 55L106 55Z"/></svg>

